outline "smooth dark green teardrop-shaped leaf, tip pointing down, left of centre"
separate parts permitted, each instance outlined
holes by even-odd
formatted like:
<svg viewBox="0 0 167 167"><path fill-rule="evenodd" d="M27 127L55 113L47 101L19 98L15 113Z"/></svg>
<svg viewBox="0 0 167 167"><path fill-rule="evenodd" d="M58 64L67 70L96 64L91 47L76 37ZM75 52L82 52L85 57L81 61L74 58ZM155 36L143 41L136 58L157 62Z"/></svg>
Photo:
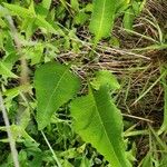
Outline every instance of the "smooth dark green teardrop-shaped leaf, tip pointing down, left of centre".
<svg viewBox="0 0 167 167"><path fill-rule="evenodd" d="M79 86L79 79L69 71L69 67L58 62L48 62L37 69L35 88L39 129L50 122L52 114L77 94Z"/></svg>

